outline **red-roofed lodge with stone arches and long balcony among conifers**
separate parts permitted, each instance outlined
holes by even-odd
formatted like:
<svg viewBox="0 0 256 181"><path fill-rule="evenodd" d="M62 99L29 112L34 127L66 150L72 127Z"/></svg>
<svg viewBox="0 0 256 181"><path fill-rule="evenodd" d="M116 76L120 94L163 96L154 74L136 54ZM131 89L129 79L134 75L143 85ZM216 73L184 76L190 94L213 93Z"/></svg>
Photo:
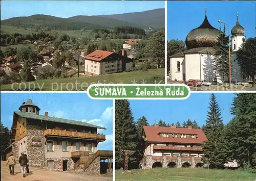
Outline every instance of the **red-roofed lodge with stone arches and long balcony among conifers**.
<svg viewBox="0 0 256 181"><path fill-rule="evenodd" d="M207 140L201 129L191 126L143 126L145 141L142 168L202 167L202 144Z"/></svg>

